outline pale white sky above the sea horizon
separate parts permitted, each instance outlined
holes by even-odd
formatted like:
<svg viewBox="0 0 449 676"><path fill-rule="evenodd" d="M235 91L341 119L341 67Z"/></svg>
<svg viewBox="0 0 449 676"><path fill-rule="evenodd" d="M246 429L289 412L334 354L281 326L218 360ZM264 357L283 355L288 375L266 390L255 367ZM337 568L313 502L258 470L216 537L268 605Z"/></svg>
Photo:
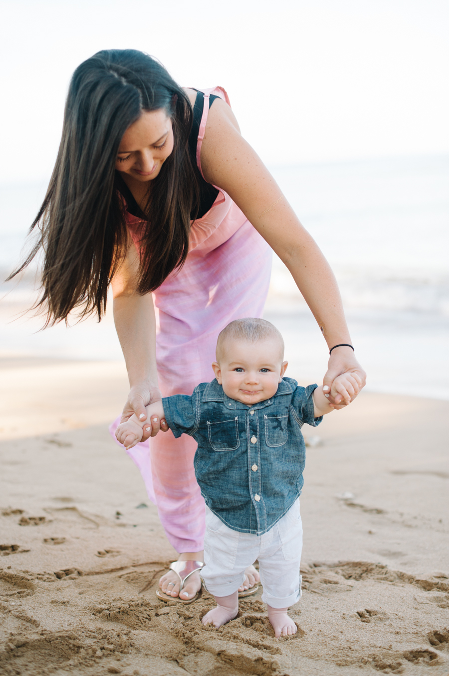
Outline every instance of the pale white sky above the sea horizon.
<svg viewBox="0 0 449 676"><path fill-rule="evenodd" d="M449 152L448 0L1 0L1 183L45 180L72 72L155 55L267 164Z"/></svg>

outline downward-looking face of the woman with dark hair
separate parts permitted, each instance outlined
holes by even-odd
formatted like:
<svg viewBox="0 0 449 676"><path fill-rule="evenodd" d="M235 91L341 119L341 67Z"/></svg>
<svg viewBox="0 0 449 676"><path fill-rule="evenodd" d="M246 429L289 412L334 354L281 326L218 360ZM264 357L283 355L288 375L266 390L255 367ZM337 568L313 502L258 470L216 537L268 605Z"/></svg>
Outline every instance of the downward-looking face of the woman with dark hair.
<svg viewBox="0 0 449 676"><path fill-rule="evenodd" d="M165 110L144 111L124 133L115 168L146 183L159 174L173 145L173 128Z"/></svg>

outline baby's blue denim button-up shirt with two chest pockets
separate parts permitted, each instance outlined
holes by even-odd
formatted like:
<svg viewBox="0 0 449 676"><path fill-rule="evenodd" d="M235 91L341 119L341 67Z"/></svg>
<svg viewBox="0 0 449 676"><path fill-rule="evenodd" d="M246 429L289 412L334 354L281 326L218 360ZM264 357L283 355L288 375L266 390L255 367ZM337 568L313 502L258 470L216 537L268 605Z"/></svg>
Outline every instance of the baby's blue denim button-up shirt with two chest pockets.
<svg viewBox="0 0 449 676"><path fill-rule="evenodd" d="M163 410L175 437L198 442L196 481L209 509L240 533L262 535L290 509L304 480L301 427L315 427L312 393L284 378L271 399L247 406L230 399L214 379L191 396L164 397Z"/></svg>

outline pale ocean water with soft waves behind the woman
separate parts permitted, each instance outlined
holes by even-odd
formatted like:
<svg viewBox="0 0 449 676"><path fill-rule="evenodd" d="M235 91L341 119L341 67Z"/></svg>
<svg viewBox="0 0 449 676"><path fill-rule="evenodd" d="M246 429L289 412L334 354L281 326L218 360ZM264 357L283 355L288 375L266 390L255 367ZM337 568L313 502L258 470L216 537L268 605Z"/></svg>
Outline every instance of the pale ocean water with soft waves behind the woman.
<svg viewBox="0 0 449 676"><path fill-rule="evenodd" d="M367 387L449 399L449 156L271 171L336 272ZM0 186L2 279L19 260L45 188ZM0 291L2 356L121 358L110 314L100 325L90 319L36 333L36 319L11 321L31 297L29 283ZM325 343L276 256L265 316L286 339L290 375L319 381Z"/></svg>

